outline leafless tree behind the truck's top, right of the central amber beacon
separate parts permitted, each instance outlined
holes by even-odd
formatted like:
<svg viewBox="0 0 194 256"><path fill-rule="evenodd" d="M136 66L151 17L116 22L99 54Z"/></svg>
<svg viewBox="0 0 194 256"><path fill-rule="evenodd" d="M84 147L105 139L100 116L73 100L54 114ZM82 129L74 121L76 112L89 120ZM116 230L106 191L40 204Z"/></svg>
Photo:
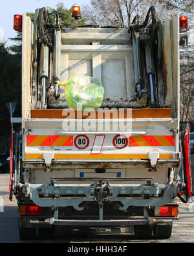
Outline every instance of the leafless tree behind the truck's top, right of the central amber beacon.
<svg viewBox="0 0 194 256"><path fill-rule="evenodd" d="M119 19L122 27L129 27L136 14L145 19L151 5L157 10L156 18L166 16L164 5L158 5L158 0L91 0L91 5L83 7L83 17L89 23L103 26L114 25L114 20Z"/></svg>

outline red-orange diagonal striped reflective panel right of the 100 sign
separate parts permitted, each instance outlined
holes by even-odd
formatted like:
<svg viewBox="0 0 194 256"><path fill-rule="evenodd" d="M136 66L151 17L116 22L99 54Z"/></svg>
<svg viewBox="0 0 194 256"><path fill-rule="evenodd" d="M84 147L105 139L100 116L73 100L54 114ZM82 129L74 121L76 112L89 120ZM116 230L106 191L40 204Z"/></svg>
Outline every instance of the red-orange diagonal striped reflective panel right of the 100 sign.
<svg viewBox="0 0 194 256"><path fill-rule="evenodd" d="M129 136L129 147L175 146L173 136Z"/></svg>

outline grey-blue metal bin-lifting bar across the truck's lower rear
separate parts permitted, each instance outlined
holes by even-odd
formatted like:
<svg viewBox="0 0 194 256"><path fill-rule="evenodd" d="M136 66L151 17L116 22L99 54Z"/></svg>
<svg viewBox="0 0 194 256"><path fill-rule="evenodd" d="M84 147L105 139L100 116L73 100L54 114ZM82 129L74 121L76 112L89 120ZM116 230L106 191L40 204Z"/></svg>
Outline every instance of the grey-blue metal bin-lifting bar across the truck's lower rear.
<svg viewBox="0 0 194 256"><path fill-rule="evenodd" d="M80 204L87 199L100 202L106 201L106 199L113 201L113 199L118 198L118 201L124 205L123 207L120 207L120 210L122 211L127 209L130 205L140 207L147 207L149 205L152 207L162 206L171 202L171 200L177 196L177 193L180 192L180 188L175 184L152 184L153 178L142 178L147 181L147 184L142 185L131 183L122 184L122 180L136 180L135 177L120 178L120 183L117 185L109 184L113 178L109 178L109 181L104 181L103 183L100 182L99 184L94 181L89 182L88 184L54 183L54 181L57 181L58 179L63 181L64 178L52 178L50 184L44 185L21 185L21 190L23 194L25 194L25 197L31 199L35 205L40 207L72 206L78 211L83 210L83 207L80 207ZM73 178L70 178L70 180L72 179ZM81 179L83 181L87 180L87 178ZM139 180L140 178L137 179ZM116 180L118 181L119 178L116 178ZM163 196L160 196L161 193ZM52 198L50 198L51 195ZM136 196L139 196L139 198L136 198ZM146 199L147 196L151 196L151 198Z"/></svg>

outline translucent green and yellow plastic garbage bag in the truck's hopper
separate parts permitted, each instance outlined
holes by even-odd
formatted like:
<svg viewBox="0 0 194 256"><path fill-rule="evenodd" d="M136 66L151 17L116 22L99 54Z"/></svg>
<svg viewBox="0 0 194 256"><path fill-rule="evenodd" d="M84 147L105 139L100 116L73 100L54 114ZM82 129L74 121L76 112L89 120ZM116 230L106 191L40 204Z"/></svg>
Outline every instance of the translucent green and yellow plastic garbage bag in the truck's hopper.
<svg viewBox="0 0 194 256"><path fill-rule="evenodd" d="M99 79L83 75L70 78L65 84L61 82L58 84L65 87L65 98L70 109L92 108L97 110L100 108L104 88Z"/></svg>

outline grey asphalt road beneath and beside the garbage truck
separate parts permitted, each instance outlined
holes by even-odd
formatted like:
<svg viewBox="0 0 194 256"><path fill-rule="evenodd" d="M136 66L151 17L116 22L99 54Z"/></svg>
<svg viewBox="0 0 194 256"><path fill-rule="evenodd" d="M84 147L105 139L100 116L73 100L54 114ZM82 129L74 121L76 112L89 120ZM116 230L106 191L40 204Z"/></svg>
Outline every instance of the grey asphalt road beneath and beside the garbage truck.
<svg viewBox="0 0 194 256"><path fill-rule="evenodd" d="M55 230L52 240L19 240L17 203L8 199L9 174L0 174L0 243L193 243L194 242L194 197L187 204L180 203L179 220L173 223L171 238L164 240L135 240L133 229L90 229L72 231L65 236L63 229ZM178 200L177 200L178 201Z"/></svg>

